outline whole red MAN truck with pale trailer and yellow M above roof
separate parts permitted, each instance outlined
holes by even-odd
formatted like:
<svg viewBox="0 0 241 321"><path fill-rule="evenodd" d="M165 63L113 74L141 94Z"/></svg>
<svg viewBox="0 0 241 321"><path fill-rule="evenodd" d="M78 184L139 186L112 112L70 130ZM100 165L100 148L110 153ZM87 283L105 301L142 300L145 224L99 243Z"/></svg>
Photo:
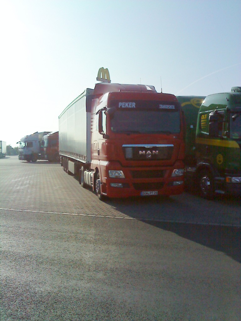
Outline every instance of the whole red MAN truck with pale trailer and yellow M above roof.
<svg viewBox="0 0 241 321"><path fill-rule="evenodd" d="M59 116L63 169L100 199L181 194L185 146L177 98L153 86L110 83L108 69L97 80L103 82Z"/></svg>

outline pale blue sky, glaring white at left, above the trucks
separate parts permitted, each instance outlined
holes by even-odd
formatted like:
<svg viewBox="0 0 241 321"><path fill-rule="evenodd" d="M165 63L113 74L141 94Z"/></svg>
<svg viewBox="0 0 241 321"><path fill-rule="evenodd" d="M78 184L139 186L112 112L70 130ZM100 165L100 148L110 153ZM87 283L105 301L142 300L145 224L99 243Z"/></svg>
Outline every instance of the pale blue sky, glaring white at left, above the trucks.
<svg viewBox="0 0 241 321"><path fill-rule="evenodd" d="M240 0L0 0L0 140L57 131L108 68L176 96L241 86Z"/></svg>

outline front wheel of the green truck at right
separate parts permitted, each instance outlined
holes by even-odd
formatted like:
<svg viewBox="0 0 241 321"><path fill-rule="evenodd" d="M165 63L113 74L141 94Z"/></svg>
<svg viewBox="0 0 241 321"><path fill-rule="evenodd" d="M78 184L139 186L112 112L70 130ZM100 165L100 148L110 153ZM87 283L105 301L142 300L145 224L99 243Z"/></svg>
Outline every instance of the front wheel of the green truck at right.
<svg viewBox="0 0 241 321"><path fill-rule="evenodd" d="M213 199L214 197L213 176L208 169L204 169L199 173L198 189L201 197L206 199Z"/></svg>

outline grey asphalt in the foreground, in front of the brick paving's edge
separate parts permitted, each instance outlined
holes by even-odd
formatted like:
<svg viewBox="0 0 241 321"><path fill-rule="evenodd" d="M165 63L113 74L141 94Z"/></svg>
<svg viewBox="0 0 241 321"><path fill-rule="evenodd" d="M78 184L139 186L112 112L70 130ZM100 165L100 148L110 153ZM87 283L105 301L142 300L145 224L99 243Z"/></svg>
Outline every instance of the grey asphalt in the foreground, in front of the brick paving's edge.
<svg viewBox="0 0 241 321"><path fill-rule="evenodd" d="M1 211L4 321L240 321L240 229Z"/></svg>

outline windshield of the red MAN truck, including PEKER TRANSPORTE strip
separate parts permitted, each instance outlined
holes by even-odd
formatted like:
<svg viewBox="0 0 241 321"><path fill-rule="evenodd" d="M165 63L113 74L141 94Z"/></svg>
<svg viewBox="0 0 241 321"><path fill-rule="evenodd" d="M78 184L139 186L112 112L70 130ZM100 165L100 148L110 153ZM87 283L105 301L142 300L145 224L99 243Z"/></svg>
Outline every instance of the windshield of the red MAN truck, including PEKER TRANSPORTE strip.
<svg viewBox="0 0 241 321"><path fill-rule="evenodd" d="M136 101L128 104L131 108L126 107L126 103L125 107L118 107L119 102L115 104L117 106L114 105L117 110L111 115L113 132L180 133L180 112L177 105L157 101Z"/></svg>

